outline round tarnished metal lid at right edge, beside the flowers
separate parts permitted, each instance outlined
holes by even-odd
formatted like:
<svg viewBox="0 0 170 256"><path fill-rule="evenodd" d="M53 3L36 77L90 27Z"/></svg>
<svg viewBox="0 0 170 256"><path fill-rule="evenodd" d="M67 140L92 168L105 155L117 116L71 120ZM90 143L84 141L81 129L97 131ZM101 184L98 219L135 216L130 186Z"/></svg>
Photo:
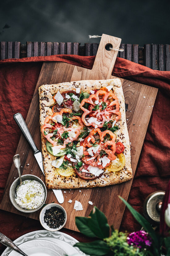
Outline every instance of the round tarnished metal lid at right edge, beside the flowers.
<svg viewBox="0 0 170 256"><path fill-rule="evenodd" d="M154 225L160 221L160 209L165 191L156 191L147 196L143 203L143 214L145 218Z"/></svg>

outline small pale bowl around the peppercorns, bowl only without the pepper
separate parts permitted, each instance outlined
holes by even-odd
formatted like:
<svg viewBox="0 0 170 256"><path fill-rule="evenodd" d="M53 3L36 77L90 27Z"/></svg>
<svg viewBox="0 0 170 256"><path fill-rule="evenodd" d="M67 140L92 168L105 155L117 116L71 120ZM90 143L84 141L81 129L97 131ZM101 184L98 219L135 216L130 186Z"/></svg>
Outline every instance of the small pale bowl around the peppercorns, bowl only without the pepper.
<svg viewBox="0 0 170 256"><path fill-rule="evenodd" d="M49 226L47 226L47 224L44 222L44 214L45 214L45 211L47 209L50 209L51 207L58 207L60 209L63 210L64 212L64 217L65 217L65 220L64 220L64 223L62 225L60 225L60 227L58 228L50 228ZM47 204L43 207L43 209L41 210L40 212L40 223L41 225L48 231L57 231L57 230L60 230L62 227L64 227L64 225L66 224L66 221L67 221L67 213L66 213L66 210L60 205L60 204L55 204L55 203L51 203L51 204Z"/></svg>

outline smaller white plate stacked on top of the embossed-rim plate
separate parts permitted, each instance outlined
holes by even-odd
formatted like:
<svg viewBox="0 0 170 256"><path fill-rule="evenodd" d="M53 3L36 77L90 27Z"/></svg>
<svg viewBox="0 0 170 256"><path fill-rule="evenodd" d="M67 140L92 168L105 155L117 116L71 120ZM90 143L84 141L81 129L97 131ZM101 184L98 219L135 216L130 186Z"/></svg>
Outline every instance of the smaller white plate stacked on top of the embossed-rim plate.
<svg viewBox="0 0 170 256"><path fill-rule="evenodd" d="M56 243L44 239L35 239L27 241L18 246L28 256L64 256L67 251ZM19 256L20 254L11 251L10 256Z"/></svg>

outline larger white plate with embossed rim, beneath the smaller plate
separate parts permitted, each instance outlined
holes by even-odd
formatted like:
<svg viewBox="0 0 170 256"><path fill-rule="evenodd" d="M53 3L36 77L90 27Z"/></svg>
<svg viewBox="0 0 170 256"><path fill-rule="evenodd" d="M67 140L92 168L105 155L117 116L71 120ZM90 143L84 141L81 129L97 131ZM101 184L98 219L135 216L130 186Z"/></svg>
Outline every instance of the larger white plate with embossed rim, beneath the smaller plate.
<svg viewBox="0 0 170 256"><path fill-rule="evenodd" d="M26 241L35 240L35 239L38 239L38 240L43 239L43 240L52 241L52 242L56 243L57 245L61 246L62 248L64 248L64 250L67 251L67 254L69 256L73 255L73 254L77 254L77 253L87 256L86 254L82 253L79 250L79 248L73 247L73 245L75 245L77 242L79 242L78 240L76 240L72 236L69 236L60 231L53 231L53 232L47 231L47 230L33 231L33 232L30 232L23 236L20 236L19 238L17 238L14 241L14 243L15 243L15 245L18 246L18 245L23 244ZM10 252L11 252L11 249L6 248L5 251L1 254L1 256L8 256L8 254ZM11 254L9 256L11 256ZM19 256L19 254L17 256Z"/></svg>

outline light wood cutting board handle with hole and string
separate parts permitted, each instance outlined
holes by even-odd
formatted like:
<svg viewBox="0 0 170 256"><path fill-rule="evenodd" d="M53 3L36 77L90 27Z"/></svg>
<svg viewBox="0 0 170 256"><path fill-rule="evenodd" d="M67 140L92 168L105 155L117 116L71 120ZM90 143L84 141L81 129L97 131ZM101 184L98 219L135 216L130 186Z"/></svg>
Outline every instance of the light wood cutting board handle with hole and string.
<svg viewBox="0 0 170 256"><path fill-rule="evenodd" d="M90 79L110 79L118 51L109 50L109 47L118 50L120 44L121 38L102 34Z"/></svg>

